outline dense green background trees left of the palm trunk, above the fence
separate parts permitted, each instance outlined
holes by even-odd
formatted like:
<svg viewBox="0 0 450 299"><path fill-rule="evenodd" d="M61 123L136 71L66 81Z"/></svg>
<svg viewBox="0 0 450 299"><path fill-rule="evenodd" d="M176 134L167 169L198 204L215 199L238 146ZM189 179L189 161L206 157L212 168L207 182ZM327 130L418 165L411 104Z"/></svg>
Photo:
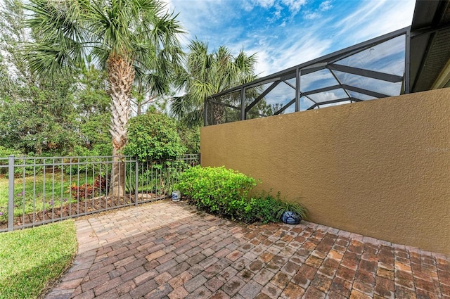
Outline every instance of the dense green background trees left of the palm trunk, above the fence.
<svg viewBox="0 0 450 299"><path fill-rule="evenodd" d="M23 45L37 37L24 27L23 5L0 8L0 144L25 154L68 155L75 145L112 152L105 72L90 58L72 75L37 78Z"/></svg>

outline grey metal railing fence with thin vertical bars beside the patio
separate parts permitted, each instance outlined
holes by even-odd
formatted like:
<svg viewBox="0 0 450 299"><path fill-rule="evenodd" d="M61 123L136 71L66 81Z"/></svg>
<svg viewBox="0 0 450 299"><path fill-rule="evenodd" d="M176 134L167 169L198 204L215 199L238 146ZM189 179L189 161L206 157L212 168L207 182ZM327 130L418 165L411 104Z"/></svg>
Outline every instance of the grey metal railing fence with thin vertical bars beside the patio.
<svg viewBox="0 0 450 299"><path fill-rule="evenodd" d="M179 174L198 164L200 154L0 158L0 232L168 198Z"/></svg>

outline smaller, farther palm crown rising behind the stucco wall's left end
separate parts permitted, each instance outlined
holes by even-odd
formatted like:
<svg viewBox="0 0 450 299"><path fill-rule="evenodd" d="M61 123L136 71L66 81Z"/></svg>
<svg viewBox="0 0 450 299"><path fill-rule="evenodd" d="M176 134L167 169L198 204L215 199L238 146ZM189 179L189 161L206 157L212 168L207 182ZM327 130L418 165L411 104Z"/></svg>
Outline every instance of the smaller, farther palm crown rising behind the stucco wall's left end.
<svg viewBox="0 0 450 299"><path fill-rule="evenodd" d="M201 125L203 104L207 96L256 79L256 55L248 56L243 50L233 56L226 46L208 53L207 42L195 39L188 46L186 69L179 70L176 84L184 96L170 101L174 116L187 125ZM217 117L220 111L215 113ZM220 120L217 120L220 122Z"/></svg>

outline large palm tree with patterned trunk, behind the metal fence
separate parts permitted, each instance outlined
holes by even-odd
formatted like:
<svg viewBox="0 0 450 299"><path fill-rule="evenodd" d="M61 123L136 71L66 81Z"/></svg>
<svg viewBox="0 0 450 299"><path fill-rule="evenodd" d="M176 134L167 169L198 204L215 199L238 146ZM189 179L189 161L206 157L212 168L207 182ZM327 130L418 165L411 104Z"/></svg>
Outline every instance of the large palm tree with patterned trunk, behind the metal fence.
<svg viewBox="0 0 450 299"><path fill-rule="evenodd" d="M113 155L127 143L131 87L136 73L148 74L155 94L167 90L181 61L176 15L157 0L30 0L27 26L37 37L27 45L27 61L40 76L70 72L88 56L108 73ZM113 163L113 192L123 192L123 165Z"/></svg>

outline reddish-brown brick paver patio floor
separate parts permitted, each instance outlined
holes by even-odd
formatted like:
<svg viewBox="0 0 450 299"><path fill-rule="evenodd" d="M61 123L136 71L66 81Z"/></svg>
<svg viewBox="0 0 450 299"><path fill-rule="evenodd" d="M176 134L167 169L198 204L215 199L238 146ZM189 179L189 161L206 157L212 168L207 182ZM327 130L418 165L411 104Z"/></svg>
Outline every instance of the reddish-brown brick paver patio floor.
<svg viewBox="0 0 450 299"><path fill-rule="evenodd" d="M76 221L54 298L450 298L450 257L322 225L244 226L169 201Z"/></svg>

